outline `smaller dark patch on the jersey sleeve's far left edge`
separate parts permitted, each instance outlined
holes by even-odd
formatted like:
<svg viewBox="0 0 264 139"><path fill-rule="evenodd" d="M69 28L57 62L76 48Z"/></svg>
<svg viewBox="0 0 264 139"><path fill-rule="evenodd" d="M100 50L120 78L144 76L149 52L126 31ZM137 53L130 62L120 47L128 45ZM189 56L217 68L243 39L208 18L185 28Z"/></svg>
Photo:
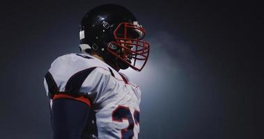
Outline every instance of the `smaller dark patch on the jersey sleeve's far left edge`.
<svg viewBox="0 0 264 139"><path fill-rule="evenodd" d="M48 95L49 97L52 97L56 92L59 92L59 88L50 72L47 72L47 74L45 75L45 79L47 82L47 88L49 89Z"/></svg>

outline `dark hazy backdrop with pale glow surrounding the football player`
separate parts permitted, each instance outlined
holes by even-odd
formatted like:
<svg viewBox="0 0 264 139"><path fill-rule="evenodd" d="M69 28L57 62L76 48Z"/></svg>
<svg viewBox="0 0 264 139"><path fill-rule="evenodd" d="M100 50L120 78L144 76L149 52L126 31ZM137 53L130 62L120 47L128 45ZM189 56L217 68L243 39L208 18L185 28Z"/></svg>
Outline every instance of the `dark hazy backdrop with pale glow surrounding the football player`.
<svg viewBox="0 0 264 139"><path fill-rule="evenodd" d="M263 6L201 1L2 1L0 138L51 137L43 77L79 52L79 22L118 3L146 28L140 138L264 138Z"/></svg>

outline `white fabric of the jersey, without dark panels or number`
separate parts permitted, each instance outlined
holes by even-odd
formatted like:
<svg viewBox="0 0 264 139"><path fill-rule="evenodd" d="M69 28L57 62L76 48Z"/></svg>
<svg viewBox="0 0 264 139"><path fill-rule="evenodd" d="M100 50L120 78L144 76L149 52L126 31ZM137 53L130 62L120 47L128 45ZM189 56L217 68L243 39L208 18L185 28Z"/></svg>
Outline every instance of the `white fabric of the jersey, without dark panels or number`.
<svg viewBox="0 0 264 139"><path fill-rule="evenodd" d="M67 54L56 58L49 69L58 88L61 92L65 91L65 85L72 75L96 67L82 83L79 92L87 95L91 99L91 106L95 110L96 124L98 126L98 138L111 139L121 138L121 130L127 128L128 121L115 122L112 113L118 106L125 106L130 109L130 113L140 111L139 104L141 90L134 83L125 83L118 72L106 63L91 55L83 58L76 54ZM109 68L114 73L111 76ZM47 83L45 89L48 93ZM134 117L133 117L134 118ZM137 139L139 124L134 124L134 139Z"/></svg>

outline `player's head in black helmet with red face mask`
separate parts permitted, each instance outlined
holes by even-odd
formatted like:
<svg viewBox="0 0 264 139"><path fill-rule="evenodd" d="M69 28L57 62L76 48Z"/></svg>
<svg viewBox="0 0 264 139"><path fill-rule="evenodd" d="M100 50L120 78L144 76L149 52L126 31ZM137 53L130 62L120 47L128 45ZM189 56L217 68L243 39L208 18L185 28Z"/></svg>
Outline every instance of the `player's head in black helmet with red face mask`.
<svg viewBox="0 0 264 139"><path fill-rule="evenodd" d="M141 71L150 51L144 35L144 28L130 10L105 4L93 8L81 20L80 49L83 53L95 52L120 69Z"/></svg>

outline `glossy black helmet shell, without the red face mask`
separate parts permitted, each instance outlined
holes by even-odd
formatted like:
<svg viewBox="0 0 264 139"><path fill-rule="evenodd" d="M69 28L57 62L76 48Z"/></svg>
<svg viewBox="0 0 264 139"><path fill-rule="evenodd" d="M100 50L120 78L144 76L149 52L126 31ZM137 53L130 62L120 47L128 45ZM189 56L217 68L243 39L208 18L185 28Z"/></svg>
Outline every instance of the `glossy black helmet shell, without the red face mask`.
<svg viewBox="0 0 264 139"><path fill-rule="evenodd" d="M133 23L137 19L123 6L104 4L90 10L81 19L80 31L84 36L81 44L88 44L92 49L106 48L107 43L114 40L114 31L121 22Z"/></svg>

